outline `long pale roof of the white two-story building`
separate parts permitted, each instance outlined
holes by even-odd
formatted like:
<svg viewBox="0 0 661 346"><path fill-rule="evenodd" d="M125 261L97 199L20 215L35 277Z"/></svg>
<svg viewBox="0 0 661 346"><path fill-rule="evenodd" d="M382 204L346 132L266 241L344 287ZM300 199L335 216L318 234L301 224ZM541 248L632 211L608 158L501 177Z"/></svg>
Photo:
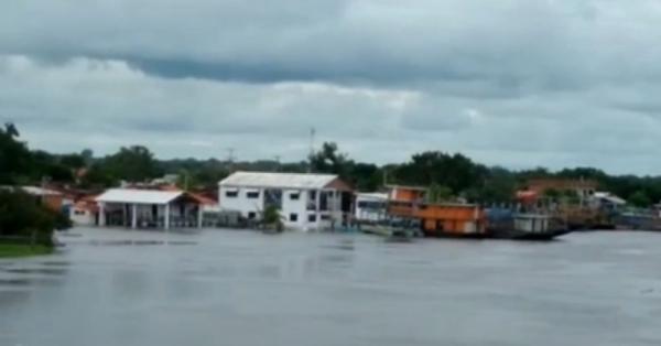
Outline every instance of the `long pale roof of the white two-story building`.
<svg viewBox="0 0 661 346"><path fill-rule="evenodd" d="M335 174L236 172L223 180L219 185L310 190L324 188L336 180Z"/></svg>

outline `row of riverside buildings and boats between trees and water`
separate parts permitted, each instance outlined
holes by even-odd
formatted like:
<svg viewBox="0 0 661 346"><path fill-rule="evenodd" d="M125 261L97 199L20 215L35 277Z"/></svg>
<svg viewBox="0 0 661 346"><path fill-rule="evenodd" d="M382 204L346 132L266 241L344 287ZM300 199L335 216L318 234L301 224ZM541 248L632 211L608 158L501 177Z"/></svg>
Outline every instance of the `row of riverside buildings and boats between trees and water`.
<svg viewBox="0 0 661 346"><path fill-rule="evenodd" d="M128 230L366 233L399 241L553 240L594 229L661 231L661 204L636 208L584 179L531 179L511 202L486 205L440 197L434 186L384 184L377 191L356 191L336 174L237 171L205 191L182 190L177 179L122 182L95 192L61 184L17 188L74 226Z"/></svg>

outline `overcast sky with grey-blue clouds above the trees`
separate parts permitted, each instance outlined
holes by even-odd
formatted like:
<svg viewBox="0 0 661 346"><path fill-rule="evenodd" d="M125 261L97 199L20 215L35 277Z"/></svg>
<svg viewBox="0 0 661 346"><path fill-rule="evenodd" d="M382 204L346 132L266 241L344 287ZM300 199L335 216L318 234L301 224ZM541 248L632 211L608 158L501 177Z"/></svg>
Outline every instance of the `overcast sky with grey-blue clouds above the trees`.
<svg viewBox="0 0 661 346"><path fill-rule="evenodd" d="M658 0L7 0L31 148L299 161L425 150L661 174Z"/></svg>

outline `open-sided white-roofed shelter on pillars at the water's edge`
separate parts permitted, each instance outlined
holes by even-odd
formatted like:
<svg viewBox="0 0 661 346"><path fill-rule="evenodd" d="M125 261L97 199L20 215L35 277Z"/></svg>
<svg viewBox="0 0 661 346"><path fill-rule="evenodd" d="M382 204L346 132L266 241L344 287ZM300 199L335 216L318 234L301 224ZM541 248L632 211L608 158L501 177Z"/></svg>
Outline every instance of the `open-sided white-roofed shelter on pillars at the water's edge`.
<svg viewBox="0 0 661 346"><path fill-rule="evenodd" d="M101 227L202 227L199 201L183 191L111 188L95 199Z"/></svg>

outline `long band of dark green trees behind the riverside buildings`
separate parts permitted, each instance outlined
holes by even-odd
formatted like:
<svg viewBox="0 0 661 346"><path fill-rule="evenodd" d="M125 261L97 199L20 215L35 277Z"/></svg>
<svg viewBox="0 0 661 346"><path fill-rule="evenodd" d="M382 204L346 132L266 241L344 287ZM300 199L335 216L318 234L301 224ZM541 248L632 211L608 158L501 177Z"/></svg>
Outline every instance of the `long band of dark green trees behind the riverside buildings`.
<svg viewBox="0 0 661 346"><path fill-rule="evenodd" d="M513 171L488 166L460 153L425 151L407 162L377 165L353 160L336 143L323 143L307 160L281 163L274 160L228 162L217 159L158 160L145 147L120 148L116 153L95 156L91 150L53 154L29 150L19 131L8 125L0 136L0 184L39 183L44 177L82 188L116 186L120 181L145 182L176 174L177 184L188 188L215 190L231 171L334 173L359 191L378 191L383 185L432 186L438 196L463 197L476 203L511 202L516 191L530 179L562 177L596 181L636 206L661 202L661 176L610 175L594 167L552 172L543 167Z"/></svg>

